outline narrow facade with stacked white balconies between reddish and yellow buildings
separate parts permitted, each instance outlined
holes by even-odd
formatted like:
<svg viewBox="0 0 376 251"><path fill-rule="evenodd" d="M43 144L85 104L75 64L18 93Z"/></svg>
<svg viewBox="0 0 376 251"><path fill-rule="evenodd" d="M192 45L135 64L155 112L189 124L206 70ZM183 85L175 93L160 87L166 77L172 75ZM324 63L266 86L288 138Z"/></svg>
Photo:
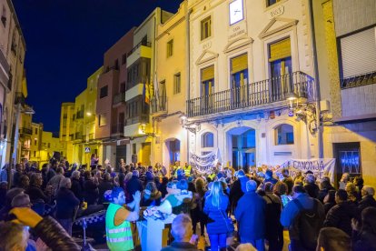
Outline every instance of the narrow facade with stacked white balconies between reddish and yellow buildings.
<svg viewBox="0 0 376 251"><path fill-rule="evenodd" d="M130 139L126 147L127 162L141 162L144 166L152 164L153 122L150 98L156 83L156 26L163 24L172 15L161 8L155 8L134 30L134 48L126 59L124 136Z"/></svg>

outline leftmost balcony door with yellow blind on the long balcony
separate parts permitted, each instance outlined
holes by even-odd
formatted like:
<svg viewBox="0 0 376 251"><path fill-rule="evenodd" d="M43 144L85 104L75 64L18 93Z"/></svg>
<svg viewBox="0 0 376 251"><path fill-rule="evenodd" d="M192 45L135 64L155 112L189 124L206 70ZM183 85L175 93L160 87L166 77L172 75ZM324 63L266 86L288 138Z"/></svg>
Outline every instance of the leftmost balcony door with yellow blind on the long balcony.
<svg viewBox="0 0 376 251"><path fill-rule="evenodd" d="M213 108L214 94L214 65L201 70L201 96L203 97L201 107L203 109Z"/></svg>

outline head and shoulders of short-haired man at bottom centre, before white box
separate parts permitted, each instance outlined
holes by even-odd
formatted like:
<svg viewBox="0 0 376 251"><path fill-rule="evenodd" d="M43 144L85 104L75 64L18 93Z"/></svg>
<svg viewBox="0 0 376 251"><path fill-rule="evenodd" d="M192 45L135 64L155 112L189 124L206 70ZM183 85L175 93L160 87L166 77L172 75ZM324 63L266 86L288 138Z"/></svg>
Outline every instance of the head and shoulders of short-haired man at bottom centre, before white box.
<svg viewBox="0 0 376 251"><path fill-rule="evenodd" d="M198 251L190 241L193 236L192 220L187 215L178 215L173 219L171 235L174 240L170 246L163 247L161 251Z"/></svg>

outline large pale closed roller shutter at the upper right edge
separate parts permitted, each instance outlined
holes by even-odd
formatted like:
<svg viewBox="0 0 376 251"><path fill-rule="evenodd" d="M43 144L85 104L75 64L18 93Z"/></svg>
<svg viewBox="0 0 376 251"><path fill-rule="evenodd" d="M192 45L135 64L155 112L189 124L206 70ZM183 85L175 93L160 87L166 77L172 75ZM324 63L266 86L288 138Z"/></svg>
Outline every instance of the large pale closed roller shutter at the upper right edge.
<svg viewBox="0 0 376 251"><path fill-rule="evenodd" d="M343 78L376 71L376 28L341 38Z"/></svg>

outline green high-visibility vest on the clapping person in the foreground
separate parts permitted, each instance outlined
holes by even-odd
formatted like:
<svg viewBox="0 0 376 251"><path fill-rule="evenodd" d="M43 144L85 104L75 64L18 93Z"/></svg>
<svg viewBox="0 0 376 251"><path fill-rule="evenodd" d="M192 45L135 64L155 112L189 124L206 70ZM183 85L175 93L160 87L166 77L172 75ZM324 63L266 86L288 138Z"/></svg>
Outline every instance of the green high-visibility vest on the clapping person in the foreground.
<svg viewBox="0 0 376 251"><path fill-rule="evenodd" d="M114 216L117 210L123 206L111 203L105 214L105 234L107 246L110 250L132 250L134 249L134 240L132 238L131 223L127 220L119 226L114 226Z"/></svg>

